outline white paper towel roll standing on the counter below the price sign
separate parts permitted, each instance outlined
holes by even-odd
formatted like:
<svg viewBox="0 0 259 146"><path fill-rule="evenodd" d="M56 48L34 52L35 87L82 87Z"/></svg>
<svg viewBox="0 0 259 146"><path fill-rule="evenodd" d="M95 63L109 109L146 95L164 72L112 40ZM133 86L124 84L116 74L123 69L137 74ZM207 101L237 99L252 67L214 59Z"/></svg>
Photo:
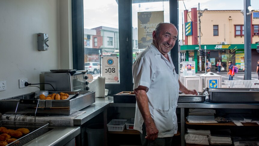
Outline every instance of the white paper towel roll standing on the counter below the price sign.
<svg viewBox="0 0 259 146"><path fill-rule="evenodd" d="M95 97L105 97L105 77L99 76L88 85L89 91L95 92Z"/></svg>

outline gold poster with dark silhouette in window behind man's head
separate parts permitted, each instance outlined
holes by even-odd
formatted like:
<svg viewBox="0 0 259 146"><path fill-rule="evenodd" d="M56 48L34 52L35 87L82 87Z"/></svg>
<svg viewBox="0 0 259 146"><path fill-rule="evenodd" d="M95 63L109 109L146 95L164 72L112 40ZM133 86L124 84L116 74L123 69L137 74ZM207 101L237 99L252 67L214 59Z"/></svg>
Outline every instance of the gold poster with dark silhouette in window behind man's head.
<svg viewBox="0 0 259 146"><path fill-rule="evenodd" d="M164 22L164 11L138 12L138 46L147 48L152 42L152 33L158 23Z"/></svg>

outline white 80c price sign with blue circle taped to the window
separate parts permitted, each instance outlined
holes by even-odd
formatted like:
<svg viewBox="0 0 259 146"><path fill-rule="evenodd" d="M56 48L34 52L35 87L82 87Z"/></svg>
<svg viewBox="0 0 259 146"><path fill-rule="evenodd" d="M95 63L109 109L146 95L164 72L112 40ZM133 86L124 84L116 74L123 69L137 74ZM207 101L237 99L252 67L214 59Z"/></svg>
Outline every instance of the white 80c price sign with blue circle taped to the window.
<svg viewBox="0 0 259 146"><path fill-rule="evenodd" d="M119 83L119 57L101 57L101 76L105 77L105 83Z"/></svg>

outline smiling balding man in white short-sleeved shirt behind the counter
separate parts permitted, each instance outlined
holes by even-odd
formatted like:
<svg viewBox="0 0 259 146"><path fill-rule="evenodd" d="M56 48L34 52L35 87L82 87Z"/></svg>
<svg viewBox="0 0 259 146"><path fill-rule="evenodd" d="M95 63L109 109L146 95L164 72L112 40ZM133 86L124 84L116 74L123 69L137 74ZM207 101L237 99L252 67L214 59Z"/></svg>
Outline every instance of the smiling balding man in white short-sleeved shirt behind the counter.
<svg viewBox="0 0 259 146"><path fill-rule="evenodd" d="M175 109L179 89L196 94L178 80L168 52L175 45L178 31L171 23L159 23L152 33L153 42L133 64L136 114L134 129L140 131L142 145L171 145L177 133Z"/></svg>

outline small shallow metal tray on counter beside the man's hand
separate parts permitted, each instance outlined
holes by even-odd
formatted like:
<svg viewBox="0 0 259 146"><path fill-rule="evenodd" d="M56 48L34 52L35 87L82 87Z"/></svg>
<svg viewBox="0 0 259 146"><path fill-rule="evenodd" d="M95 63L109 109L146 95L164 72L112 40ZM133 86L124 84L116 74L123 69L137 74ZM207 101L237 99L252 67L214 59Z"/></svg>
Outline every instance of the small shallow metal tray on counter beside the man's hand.
<svg viewBox="0 0 259 146"><path fill-rule="evenodd" d="M178 103L185 103L185 102L204 102L206 95L185 95L179 94Z"/></svg>

